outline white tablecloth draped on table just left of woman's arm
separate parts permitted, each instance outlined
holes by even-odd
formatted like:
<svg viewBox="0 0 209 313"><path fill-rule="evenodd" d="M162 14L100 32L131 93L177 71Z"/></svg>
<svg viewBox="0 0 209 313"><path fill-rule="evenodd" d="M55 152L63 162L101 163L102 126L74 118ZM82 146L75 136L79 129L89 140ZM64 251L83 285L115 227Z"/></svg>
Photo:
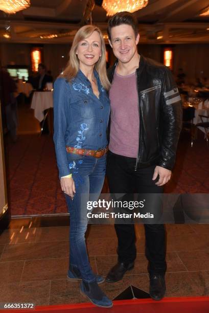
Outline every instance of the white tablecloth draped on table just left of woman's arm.
<svg viewBox="0 0 209 313"><path fill-rule="evenodd" d="M33 94L31 108L34 109L34 116L39 122L44 119L43 111L53 107L53 92L35 92Z"/></svg>

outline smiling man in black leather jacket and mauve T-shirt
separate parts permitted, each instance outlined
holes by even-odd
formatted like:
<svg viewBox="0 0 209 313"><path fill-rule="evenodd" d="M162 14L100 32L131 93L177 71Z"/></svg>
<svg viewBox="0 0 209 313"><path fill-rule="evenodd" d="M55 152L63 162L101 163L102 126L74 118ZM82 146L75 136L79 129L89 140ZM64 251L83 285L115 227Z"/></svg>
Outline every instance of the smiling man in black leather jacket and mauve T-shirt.
<svg viewBox="0 0 209 313"><path fill-rule="evenodd" d="M108 21L109 43L117 61L109 69L111 88L107 178L110 193L162 193L170 180L181 129L181 102L170 70L137 53L140 39L134 16L115 14ZM154 208L155 209L155 208ZM118 263L106 277L119 281L136 258L133 224L115 224ZM150 296L166 291L164 225L145 225Z"/></svg>

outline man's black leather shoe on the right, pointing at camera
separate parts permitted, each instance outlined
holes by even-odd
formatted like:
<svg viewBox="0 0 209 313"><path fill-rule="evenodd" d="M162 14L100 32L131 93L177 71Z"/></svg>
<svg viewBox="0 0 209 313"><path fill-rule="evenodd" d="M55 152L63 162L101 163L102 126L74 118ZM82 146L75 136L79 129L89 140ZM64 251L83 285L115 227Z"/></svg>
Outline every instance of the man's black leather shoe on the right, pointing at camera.
<svg viewBox="0 0 209 313"><path fill-rule="evenodd" d="M166 293L165 276L162 274L150 275L150 297L161 300Z"/></svg>

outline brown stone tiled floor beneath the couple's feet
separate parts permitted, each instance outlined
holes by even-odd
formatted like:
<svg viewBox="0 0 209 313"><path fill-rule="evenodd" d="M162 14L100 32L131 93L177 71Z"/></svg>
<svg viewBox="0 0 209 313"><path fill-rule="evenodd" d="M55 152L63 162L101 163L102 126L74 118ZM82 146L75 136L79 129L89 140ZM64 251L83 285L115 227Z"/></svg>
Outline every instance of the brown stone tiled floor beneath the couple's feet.
<svg viewBox="0 0 209 313"><path fill-rule="evenodd" d="M68 227L36 226L36 223L20 224L16 220L12 222L12 228L0 236L0 302L33 302L36 305L87 302L79 292L79 283L66 279ZM209 296L209 225L167 225L166 228L166 297ZM134 269L122 281L101 285L112 299L130 284L148 292L142 225L136 226L136 237ZM105 276L117 261L113 226L91 225L87 232L87 247L92 269Z"/></svg>

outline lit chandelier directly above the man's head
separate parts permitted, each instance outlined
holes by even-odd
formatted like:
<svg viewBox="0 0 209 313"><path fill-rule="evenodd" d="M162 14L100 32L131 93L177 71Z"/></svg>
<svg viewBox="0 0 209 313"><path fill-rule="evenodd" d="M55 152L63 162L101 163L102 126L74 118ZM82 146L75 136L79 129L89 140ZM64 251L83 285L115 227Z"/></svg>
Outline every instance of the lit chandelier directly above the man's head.
<svg viewBox="0 0 209 313"><path fill-rule="evenodd" d="M148 0L103 0L102 7L107 16L111 16L123 11L132 13L146 7L147 4Z"/></svg>

